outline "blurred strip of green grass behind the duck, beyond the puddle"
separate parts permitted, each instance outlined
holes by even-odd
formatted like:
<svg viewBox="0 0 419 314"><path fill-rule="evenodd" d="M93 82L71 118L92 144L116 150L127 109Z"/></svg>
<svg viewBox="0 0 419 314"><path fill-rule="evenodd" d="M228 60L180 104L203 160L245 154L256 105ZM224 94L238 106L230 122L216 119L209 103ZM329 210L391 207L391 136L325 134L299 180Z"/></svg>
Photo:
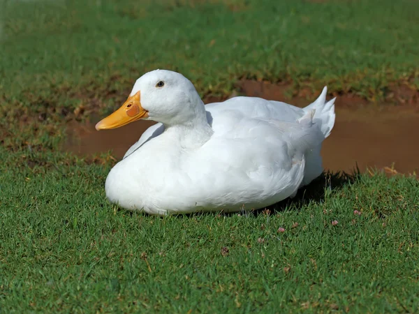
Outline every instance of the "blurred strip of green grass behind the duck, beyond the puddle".
<svg viewBox="0 0 419 314"><path fill-rule="evenodd" d="M368 95L418 73L417 1L210 2L6 1L1 87L98 87L170 68L203 94L258 77Z"/></svg>

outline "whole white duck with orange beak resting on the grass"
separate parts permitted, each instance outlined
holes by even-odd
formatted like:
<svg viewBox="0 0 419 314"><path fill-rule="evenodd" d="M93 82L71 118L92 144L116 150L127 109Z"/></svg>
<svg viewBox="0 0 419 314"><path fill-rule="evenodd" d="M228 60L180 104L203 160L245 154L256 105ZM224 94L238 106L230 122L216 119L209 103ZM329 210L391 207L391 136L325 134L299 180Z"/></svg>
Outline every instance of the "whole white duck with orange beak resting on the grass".
<svg viewBox="0 0 419 314"><path fill-rule="evenodd" d="M326 91L303 109L253 97L204 106L183 75L146 73L124 105L96 124L160 122L112 168L106 195L157 215L260 209L292 197L323 172L321 144L335 124Z"/></svg>

